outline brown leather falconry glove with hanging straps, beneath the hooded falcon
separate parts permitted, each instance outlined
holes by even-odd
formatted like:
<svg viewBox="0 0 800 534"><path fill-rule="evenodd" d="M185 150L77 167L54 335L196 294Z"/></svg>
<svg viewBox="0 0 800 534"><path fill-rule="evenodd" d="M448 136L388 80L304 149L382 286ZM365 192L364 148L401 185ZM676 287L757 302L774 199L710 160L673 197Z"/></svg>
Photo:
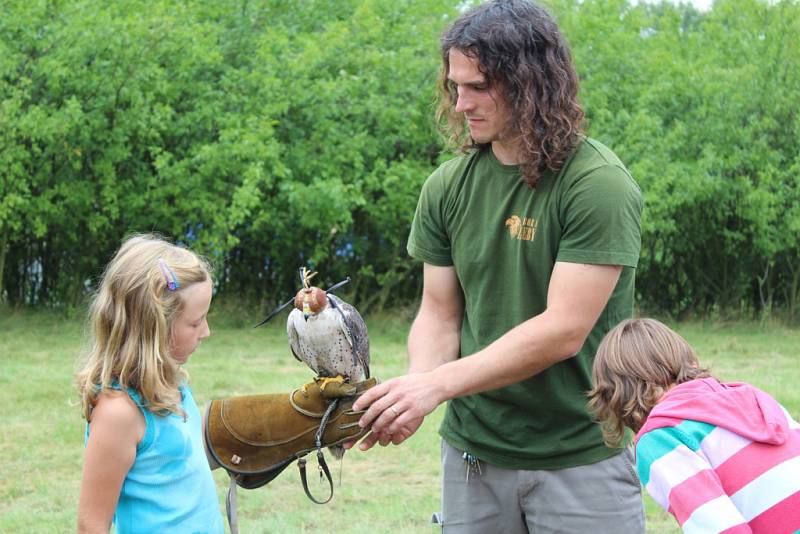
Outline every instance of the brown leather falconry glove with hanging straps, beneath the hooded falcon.
<svg viewBox="0 0 800 534"><path fill-rule="evenodd" d="M231 531L236 522L236 486L259 488L298 461L306 495L317 504L333 497L333 481L322 454L368 431L358 426L363 412L353 402L377 383L371 378L354 384L315 380L289 394L268 394L212 400L207 404L205 440L209 456L231 477L226 508ZM330 493L325 500L311 495L306 482L306 460L317 451Z"/></svg>

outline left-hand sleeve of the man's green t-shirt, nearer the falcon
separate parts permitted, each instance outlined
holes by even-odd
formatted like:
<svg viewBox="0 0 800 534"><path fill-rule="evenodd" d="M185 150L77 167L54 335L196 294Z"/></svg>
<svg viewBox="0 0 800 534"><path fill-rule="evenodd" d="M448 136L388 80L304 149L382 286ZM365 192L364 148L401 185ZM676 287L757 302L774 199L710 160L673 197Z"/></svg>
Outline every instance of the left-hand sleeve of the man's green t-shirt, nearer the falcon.
<svg viewBox="0 0 800 534"><path fill-rule="evenodd" d="M412 258L439 267L453 265L450 236L446 226L444 182L440 167L422 186L406 246Z"/></svg>

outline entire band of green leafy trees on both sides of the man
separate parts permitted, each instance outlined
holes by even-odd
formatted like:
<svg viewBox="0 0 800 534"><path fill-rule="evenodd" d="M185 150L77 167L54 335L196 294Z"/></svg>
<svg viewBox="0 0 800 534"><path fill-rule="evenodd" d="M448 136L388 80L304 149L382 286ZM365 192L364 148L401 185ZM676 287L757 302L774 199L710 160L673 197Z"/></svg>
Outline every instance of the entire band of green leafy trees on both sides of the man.
<svg viewBox="0 0 800 534"><path fill-rule="evenodd" d="M32 0L0 14L0 297L74 305L131 232L285 300L297 268L410 301L405 252L456 0ZM800 8L548 3L588 132L642 186L641 304L800 305Z"/></svg>

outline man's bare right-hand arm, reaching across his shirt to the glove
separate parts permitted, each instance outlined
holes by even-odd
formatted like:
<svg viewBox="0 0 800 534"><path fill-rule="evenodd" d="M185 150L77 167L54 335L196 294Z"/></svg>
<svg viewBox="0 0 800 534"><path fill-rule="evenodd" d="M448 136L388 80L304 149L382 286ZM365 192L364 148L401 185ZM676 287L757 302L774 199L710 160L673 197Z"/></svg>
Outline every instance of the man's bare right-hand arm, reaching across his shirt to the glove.
<svg viewBox="0 0 800 534"><path fill-rule="evenodd" d="M400 436L402 441L442 402L520 382L574 356L605 308L621 271L622 267L613 265L556 263L544 312L468 358L373 388L356 402L356 408L369 407L361 424L371 425L373 433Z"/></svg>

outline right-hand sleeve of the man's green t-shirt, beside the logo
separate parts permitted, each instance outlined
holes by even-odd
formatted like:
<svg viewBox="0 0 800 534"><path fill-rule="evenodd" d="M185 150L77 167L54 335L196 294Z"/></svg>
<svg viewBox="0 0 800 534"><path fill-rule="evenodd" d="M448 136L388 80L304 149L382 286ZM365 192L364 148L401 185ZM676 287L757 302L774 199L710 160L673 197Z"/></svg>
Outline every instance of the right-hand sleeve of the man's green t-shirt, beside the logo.
<svg viewBox="0 0 800 534"><path fill-rule="evenodd" d="M557 261L636 267L643 208L639 186L606 164L569 184L561 204Z"/></svg>

